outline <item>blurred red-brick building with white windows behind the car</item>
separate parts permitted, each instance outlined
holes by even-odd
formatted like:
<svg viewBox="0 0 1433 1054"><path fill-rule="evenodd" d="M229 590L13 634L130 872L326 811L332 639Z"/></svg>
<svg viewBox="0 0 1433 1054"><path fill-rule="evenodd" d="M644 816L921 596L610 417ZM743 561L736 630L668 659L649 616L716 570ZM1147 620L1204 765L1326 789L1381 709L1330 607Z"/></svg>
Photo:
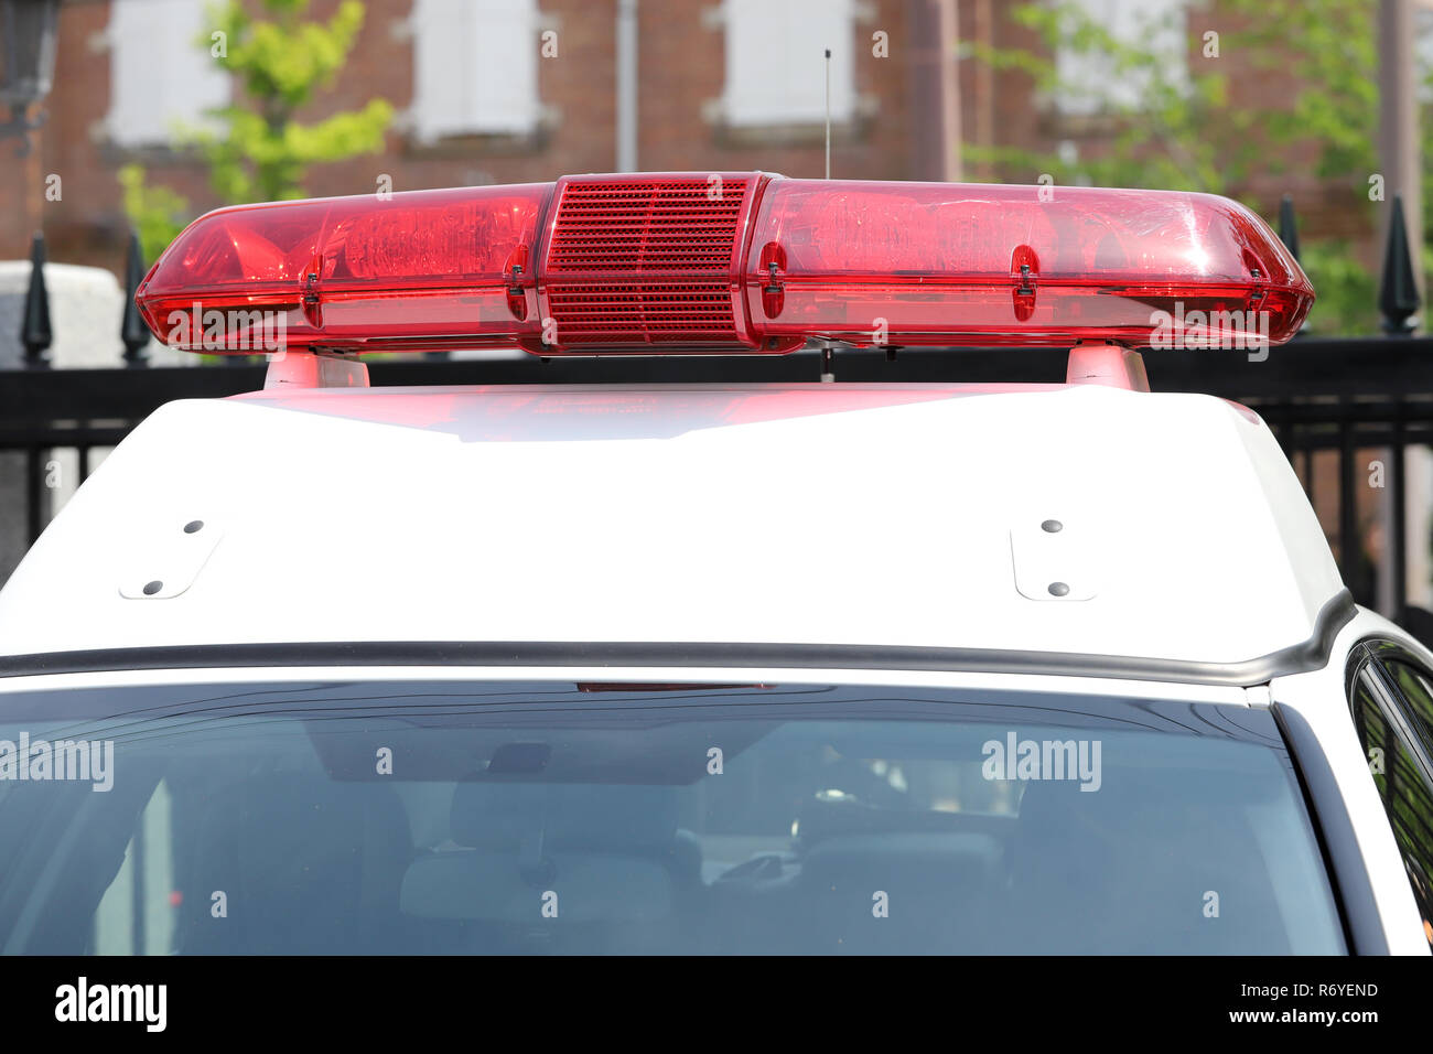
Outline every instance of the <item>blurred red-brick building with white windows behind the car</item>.
<svg viewBox="0 0 1433 1054"><path fill-rule="evenodd" d="M1175 66L1198 62L1204 27L1218 26L1218 4L1082 1L1105 24L1144 33ZM327 19L337 3L314 0L311 17ZM641 169L820 176L825 47L837 178L1033 182L1036 172L989 165L962 172L956 151L943 155L941 128L954 142L1045 152L1098 149L1108 133L1088 102L1040 99L1026 75L969 59L980 44L1039 47L1009 17L1006 0L632 6ZM116 171L129 161L189 198L196 212L221 204L193 158L171 145L175 122L202 122L205 108L231 98L222 59L198 43L208 34L205 7L205 0L64 0L49 120L24 159L0 143L4 185L17 189L0 202L0 260L23 257L30 232L44 229L52 260L118 272L126 219ZM315 166L310 192L371 192L380 175L401 191L618 168L620 7L622 0L367 0L347 67L302 116L384 98L398 118L381 156ZM1085 70L1082 56L1053 57L1065 73L1088 73L1138 102L1138 83ZM1237 56L1224 62L1235 93L1267 95L1267 72L1241 67ZM46 195L56 175L57 201ZM1273 205L1283 189L1255 192ZM1294 189L1311 205L1303 209L1311 234L1369 235L1340 231L1347 209L1318 208L1328 188Z"/></svg>

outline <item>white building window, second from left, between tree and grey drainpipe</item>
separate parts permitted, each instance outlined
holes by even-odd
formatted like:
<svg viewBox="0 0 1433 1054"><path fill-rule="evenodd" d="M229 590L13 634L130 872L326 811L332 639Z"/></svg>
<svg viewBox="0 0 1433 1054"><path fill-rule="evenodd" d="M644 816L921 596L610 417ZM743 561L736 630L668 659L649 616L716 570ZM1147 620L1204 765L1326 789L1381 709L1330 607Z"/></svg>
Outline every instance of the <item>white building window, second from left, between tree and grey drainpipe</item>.
<svg viewBox="0 0 1433 1054"><path fill-rule="evenodd" d="M537 128L536 0L414 0L411 24L420 142Z"/></svg>

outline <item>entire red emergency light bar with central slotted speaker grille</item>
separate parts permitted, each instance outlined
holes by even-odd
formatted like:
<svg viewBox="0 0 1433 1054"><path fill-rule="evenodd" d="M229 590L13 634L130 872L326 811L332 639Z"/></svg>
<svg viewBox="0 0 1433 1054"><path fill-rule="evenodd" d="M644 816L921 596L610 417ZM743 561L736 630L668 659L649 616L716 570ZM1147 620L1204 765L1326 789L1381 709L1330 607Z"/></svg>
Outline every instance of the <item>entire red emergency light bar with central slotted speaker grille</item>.
<svg viewBox="0 0 1433 1054"><path fill-rule="evenodd" d="M1267 347L1313 295L1273 231L1212 195L728 172L219 209L136 301L195 351L277 350L277 326L289 348L557 356Z"/></svg>

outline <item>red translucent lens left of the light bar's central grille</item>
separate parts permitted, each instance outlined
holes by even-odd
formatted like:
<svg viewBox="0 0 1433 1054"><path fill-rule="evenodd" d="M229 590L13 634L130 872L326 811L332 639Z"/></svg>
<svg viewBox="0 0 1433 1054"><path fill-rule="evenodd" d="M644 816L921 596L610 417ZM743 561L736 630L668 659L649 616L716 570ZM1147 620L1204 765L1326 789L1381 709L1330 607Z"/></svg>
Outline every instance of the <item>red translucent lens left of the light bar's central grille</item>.
<svg viewBox="0 0 1433 1054"><path fill-rule="evenodd" d="M503 347L540 331L532 251L552 184L222 208L135 297L188 351Z"/></svg>

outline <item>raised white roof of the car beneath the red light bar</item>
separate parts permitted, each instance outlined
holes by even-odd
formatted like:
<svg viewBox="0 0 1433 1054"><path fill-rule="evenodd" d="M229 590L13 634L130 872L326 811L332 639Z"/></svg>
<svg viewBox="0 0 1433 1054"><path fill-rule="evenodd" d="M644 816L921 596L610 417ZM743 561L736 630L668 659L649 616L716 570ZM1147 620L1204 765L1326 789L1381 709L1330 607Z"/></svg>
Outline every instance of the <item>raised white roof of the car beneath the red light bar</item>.
<svg viewBox="0 0 1433 1054"><path fill-rule="evenodd" d="M0 591L0 657L582 644L1260 683L1351 615L1267 426L1208 396L271 389L140 424Z"/></svg>

